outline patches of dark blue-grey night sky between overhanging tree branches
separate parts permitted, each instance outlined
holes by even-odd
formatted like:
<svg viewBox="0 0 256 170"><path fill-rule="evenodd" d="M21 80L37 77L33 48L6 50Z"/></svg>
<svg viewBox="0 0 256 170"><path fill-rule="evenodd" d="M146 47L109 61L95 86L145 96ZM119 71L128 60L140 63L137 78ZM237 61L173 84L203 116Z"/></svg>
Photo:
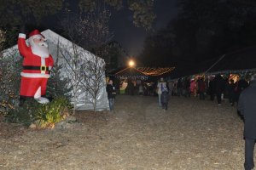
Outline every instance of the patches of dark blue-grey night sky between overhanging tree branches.
<svg viewBox="0 0 256 170"><path fill-rule="evenodd" d="M157 0L154 5L156 19L153 27L157 31L177 16L177 0ZM113 13L110 23L113 40L119 42L129 56L137 56L143 49L147 31L132 24L132 14L127 8Z"/></svg>

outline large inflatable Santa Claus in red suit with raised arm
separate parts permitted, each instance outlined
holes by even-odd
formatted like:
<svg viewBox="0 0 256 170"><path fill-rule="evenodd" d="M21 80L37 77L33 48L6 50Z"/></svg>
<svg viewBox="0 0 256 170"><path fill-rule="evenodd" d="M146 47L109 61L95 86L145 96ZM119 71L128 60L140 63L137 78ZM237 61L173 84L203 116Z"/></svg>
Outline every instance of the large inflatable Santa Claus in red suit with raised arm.
<svg viewBox="0 0 256 170"><path fill-rule="evenodd" d="M18 48L20 55L24 58L23 70L20 73L21 100L34 98L41 104L49 102L49 99L44 96L54 60L49 54L48 44L45 41L45 37L38 30L34 30L29 34L29 46L27 46L26 34L19 34Z"/></svg>

